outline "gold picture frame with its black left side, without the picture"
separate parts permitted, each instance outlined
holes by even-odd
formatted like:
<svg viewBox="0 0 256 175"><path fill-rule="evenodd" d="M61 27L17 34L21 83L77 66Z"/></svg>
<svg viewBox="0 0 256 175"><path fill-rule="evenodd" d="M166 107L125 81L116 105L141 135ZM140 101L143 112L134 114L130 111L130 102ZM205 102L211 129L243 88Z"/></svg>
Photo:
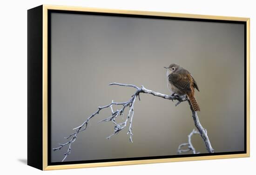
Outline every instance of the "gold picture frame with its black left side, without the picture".
<svg viewBox="0 0 256 175"><path fill-rule="evenodd" d="M100 12L100 13L115 13L128 15L145 15L155 17L172 17L186 19L205 19L205 20L222 20L222 21L242 21L246 24L246 153L243 154L227 154L227 155L209 155L209 156L188 156L175 158L159 158L159 159L144 159L144 160L128 160L115 162L94 162L94 163L79 163L79 164L61 164L49 165L48 163L48 11L74 11L74 12ZM28 10L28 165L41 170L53 169L74 169L87 167L101 166L117 166L117 165L132 165L144 163L161 163L161 162L180 162L194 160L209 160L223 158L238 158L249 157L249 18L226 17L226 16L210 16L197 14L183 14L170 12L148 12L148 11L131 11L118 9L101 9L75 6L52 6L42 5ZM37 31L33 31L37 29ZM38 33L36 33L38 32ZM41 32L41 33L40 33ZM40 35L41 34L41 35ZM36 41L35 41L35 38ZM35 42L35 43L33 43ZM36 44L36 43L39 43ZM36 47L36 48L35 48ZM36 50L36 51L35 51ZM38 59L38 56L41 59ZM38 59L38 61L33 60ZM35 64L41 66L41 69L33 68ZM37 73L41 76L38 80ZM35 81L40 81L38 87L34 86ZM41 88L40 88L41 87ZM38 93L38 96L34 95ZM37 97L40 97L39 99ZM35 99L37 98L37 99ZM41 100L36 101L36 100ZM33 108L33 109L32 109ZM37 118L40 116L39 118ZM39 136L41 134L41 136ZM35 143L36 142L36 143Z"/></svg>

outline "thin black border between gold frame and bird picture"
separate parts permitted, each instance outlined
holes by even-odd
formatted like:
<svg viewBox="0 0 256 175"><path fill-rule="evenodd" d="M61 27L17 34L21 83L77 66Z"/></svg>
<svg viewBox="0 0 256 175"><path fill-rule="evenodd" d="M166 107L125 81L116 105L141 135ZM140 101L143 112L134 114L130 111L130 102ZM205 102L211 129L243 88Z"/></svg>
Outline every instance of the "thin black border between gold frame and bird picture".
<svg viewBox="0 0 256 175"><path fill-rule="evenodd" d="M202 154L187 154L187 155L168 155L168 156L148 156L148 157L131 157L131 158L115 158L115 159L101 159L101 160L84 160L84 161L65 161L65 162L51 162L51 13L66 13L66 14L85 14L85 15L99 15L99 16L113 16L113 17L129 17L129 18L144 18L144 19L169 19L169 20L182 20L182 21L197 21L197 22L217 22L217 23L232 23L244 25L244 151L234 152L217 152L217 153L202 153ZM151 15L135 15L135 14L120 14L120 13L107 13L107 12L78 12L66 10L47 10L47 57L48 57L48 152L47 164L48 165L65 165L65 164L80 164L80 163L96 163L96 162L118 162L118 161L135 161L147 159L164 159L176 157L196 157L196 156L211 156L211 155L232 155L232 154L246 154L247 153L247 25L246 21L232 21L232 20L219 20L219 19L192 19L180 17L164 17L164 16L151 16ZM64 156L64 155L63 155Z"/></svg>

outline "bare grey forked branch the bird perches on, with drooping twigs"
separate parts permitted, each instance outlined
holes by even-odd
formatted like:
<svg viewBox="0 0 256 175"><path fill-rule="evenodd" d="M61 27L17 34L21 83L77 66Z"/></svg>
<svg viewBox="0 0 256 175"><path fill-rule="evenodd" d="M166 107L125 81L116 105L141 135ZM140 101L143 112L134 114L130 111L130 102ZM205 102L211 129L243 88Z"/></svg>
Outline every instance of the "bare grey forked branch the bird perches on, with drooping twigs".
<svg viewBox="0 0 256 175"><path fill-rule="evenodd" d="M110 104L108 104L106 106L99 106L98 110L95 113L93 113L92 115L90 115L88 117L88 119L86 119L82 123L82 125L80 125L78 127L75 127L73 129L73 130L75 130L74 133L70 134L68 137L65 137L66 139L69 139L71 137L71 139L67 143L59 144L60 145L59 147L53 148L54 151L55 150L61 150L62 147L66 146L66 145L69 145L67 152L64 154L65 157L62 160L62 162L70 154L70 152L71 152L71 144L74 143L74 141L76 140L78 133L81 132L81 131L86 130L86 128L88 126L89 120L92 119L96 114L99 114L102 109L105 109L105 108L109 107L111 109L111 116L107 117L106 119L102 119L98 123L111 121L114 124L114 131L107 138L110 139L112 136L114 136L115 134L117 134L121 130L123 130L128 125L128 121L129 121L129 127L128 127L127 134L129 134L130 142L133 142L133 140L132 140L132 136L133 136L133 133L132 133L132 122L133 122L133 117L134 117L134 104L135 104L135 101L136 101L137 97L140 100L140 93L151 94L151 95L162 97L162 98L168 99L168 100L178 100L178 103L175 106L179 105L182 101L186 101L187 100L187 96L179 97L179 96L174 95L174 94L173 95L161 94L161 93L149 90L147 88L144 88L144 86L141 86L141 88L139 88L139 87L137 87L135 85L132 85L132 84L122 84L122 83L110 83L109 85L118 85L118 86L132 87L132 88L135 88L136 91L135 91L135 94L133 94L132 97L128 101L126 101L126 102L121 102L120 103L120 102L114 102L112 100L112 103L110 103ZM112 107L113 105L115 105L115 106L122 106L122 107L120 109L117 109L116 111L114 111L113 107ZM213 149L211 148L211 144L209 142L209 138L208 138L208 136L206 134L206 130L204 130L202 128L202 125L199 122L197 113L193 110L190 102L189 102L189 105L190 105L190 109L192 111L192 117L194 119L195 125L196 125L197 129L199 128L198 131L201 133L201 136L202 136L202 138L203 138L203 140L204 140L204 142L206 144L207 150L209 152L213 152ZM119 117L119 116L123 117L124 111L125 111L126 108L129 108L126 120L124 122L122 122L122 123L117 123L115 119L117 117Z"/></svg>

